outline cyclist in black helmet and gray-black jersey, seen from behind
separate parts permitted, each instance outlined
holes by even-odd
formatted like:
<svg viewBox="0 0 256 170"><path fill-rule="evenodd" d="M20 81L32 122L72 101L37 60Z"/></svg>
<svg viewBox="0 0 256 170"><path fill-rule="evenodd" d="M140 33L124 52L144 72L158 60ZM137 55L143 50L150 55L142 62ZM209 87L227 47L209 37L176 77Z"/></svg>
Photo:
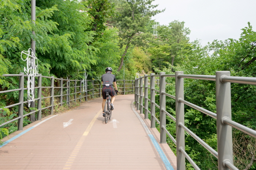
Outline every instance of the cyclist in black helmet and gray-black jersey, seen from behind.
<svg viewBox="0 0 256 170"><path fill-rule="evenodd" d="M106 92L109 92L109 95L112 96L111 104L110 104L110 109L111 110L114 110L113 103L114 103L114 100L115 100L115 91L114 91L114 88L113 88L113 84L114 84L114 87L116 89L116 92L118 92L117 85L116 85L116 76L112 74L112 68L107 67L105 69L105 72L106 72L106 74L103 74L101 76L102 98L103 98L103 101L102 101L102 111L103 111L102 115L103 115L103 117L105 117L104 107L105 107L105 102L106 102L106 99L107 99Z"/></svg>

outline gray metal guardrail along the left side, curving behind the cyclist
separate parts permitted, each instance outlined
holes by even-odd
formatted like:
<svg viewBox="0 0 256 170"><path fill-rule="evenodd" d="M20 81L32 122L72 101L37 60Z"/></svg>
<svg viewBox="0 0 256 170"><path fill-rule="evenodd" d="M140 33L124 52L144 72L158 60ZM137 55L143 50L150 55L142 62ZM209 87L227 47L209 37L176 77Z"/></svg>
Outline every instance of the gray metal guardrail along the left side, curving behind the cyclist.
<svg viewBox="0 0 256 170"><path fill-rule="evenodd" d="M0 91L0 94L19 91L19 102L12 104L10 106L4 107L4 108L10 108L10 107L18 106L19 108L18 108L17 117L15 119L9 120L8 122L4 122L3 124L0 124L0 127L8 123L14 122L15 120L18 120L18 130L23 130L23 118L25 116L29 116L37 112L37 120L41 120L42 110L45 110L47 108L50 108L50 115L53 115L54 106L58 106L58 105L63 106L64 103L67 103L69 106L70 102L72 101L76 102L76 100L79 100L79 102L82 102L82 98L85 98L85 101L87 102L90 96L92 98L101 97L101 89L102 89L101 80L86 80L87 91L82 92L82 80L54 78L54 76L48 77L48 76L42 76L41 74L38 74L37 87L34 88L34 89L37 89L37 98L35 99L35 102L37 102L37 110L31 111L30 113L23 115L24 104L28 103L27 101L24 101L24 92L25 90L27 90L27 88L24 87L24 81L25 81L26 75L24 75L23 72L20 72L20 74L5 74L2 76L5 76L5 77L18 76L19 77L18 89ZM50 79L50 86L42 87L42 78ZM54 80L59 81L59 84L60 84L59 87L54 86ZM70 85L71 82L72 82L72 86ZM123 92L123 94L125 94L125 92L126 93L133 92L135 89L133 86L133 82L134 80L117 80L118 89L120 88L123 89L122 91L119 91L119 92L121 93ZM67 85L67 86L64 86L64 85ZM43 88L50 89L50 96L42 97ZM58 93L59 95L54 95L54 90L55 90L55 94ZM63 92L65 94L63 94ZM64 99L65 96L67 97L66 99ZM71 97L73 99L71 99ZM47 98L50 98L50 106L42 108L42 100ZM54 104L54 98L59 98L59 103ZM3 108L0 108L0 111L1 110L3 110Z"/></svg>

